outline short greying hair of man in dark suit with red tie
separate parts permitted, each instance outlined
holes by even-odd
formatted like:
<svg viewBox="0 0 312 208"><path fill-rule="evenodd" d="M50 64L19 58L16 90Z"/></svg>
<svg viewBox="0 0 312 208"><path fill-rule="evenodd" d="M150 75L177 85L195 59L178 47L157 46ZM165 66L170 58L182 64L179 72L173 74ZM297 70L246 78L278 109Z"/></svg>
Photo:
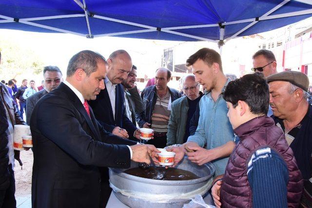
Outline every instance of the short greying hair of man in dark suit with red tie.
<svg viewBox="0 0 312 208"><path fill-rule="evenodd" d="M83 69L87 76L90 76L91 73L97 71L99 60L107 64L106 59L97 52L89 50L80 51L69 60L66 75L72 76L77 69Z"/></svg>

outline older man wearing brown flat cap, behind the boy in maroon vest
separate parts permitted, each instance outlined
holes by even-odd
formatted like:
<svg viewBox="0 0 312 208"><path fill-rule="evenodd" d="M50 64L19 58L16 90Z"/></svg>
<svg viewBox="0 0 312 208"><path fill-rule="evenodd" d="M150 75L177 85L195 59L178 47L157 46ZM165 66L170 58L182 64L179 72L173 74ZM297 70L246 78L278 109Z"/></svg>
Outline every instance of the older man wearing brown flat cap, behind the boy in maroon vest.
<svg viewBox="0 0 312 208"><path fill-rule="evenodd" d="M301 72L285 71L267 77L270 105L276 126L285 133L297 165L305 179L302 203L312 207L312 106L308 76ZM311 203L311 204L307 204Z"/></svg>

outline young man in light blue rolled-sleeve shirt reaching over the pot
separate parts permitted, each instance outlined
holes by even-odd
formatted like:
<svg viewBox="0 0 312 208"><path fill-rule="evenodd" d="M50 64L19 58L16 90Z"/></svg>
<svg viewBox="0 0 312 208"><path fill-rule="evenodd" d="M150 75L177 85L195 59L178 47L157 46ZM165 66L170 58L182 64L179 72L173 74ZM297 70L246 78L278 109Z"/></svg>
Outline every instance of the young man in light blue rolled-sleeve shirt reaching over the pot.
<svg viewBox="0 0 312 208"><path fill-rule="evenodd" d="M176 152L174 166L187 154L198 165L212 162L215 175L224 174L229 155L235 146L235 137L221 93L231 80L223 74L221 57L212 49L202 48L197 51L187 59L187 66L192 66L196 82L209 93L199 102L200 116L195 134L189 136L182 147L172 148ZM184 146L195 152L186 152Z"/></svg>

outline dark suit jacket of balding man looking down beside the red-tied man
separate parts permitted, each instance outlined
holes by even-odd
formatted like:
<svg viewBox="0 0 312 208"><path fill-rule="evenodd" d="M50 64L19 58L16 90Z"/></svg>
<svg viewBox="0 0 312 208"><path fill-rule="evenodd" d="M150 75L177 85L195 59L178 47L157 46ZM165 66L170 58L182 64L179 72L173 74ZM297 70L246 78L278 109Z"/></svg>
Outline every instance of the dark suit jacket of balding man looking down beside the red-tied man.
<svg viewBox="0 0 312 208"><path fill-rule="evenodd" d="M137 127L126 115L125 106L123 104L124 90L121 84L117 84L116 86L115 118L106 87L104 90L100 91L96 100L91 100L88 103L92 107L98 122L106 131L113 132L114 128L118 126L127 130L129 136L133 137Z"/></svg>

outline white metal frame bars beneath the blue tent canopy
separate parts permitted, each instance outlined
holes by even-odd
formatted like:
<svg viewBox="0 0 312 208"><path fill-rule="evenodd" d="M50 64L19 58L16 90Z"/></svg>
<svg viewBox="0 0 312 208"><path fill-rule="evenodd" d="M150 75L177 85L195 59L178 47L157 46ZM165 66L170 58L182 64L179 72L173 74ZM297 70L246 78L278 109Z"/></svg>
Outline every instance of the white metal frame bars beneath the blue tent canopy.
<svg viewBox="0 0 312 208"><path fill-rule="evenodd" d="M279 3L278 5L276 5L275 7L273 7L271 10L267 11L261 17L254 17L254 18L250 18L250 19L241 19L241 20L230 21L230 22L219 22L219 23L215 23L215 24L202 24L202 25L188 25L188 26L159 28L159 27L153 27L153 26L149 26L149 25L145 25L145 24L139 24L136 22L124 21L121 19L113 19L113 18L109 18L109 17L95 15L92 12L88 11L85 0L82 0L82 2L80 0L74 0L74 1L83 10L83 14L58 15L58 16L47 16L47 17L37 17L37 18L35 17L35 18L24 18L24 19L16 19L13 17L7 17L7 16L0 15L0 18L3 19L3 20L0 20L0 24L1 23L10 23L10 22L19 22L21 24L32 25L32 26L39 27L39 28L44 28L44 29L48 29L48 30L52 30L52 31L56 31L56 32L61 32L61 33L69 33L69 34L78 35L78 36L86 37L86 38L96 38L96 37L105 37L105 36L120 36L120 35L140 34L140 33L158 31L158 32L170 33L170 34L175 34L178 36L183 36L183 37L188 37L188 38L194 38L196 40L215 42L215 43L218 43L218 46L221 47L221 49L222 49L222 46L226 41L229 41L233 38L236 38L238 35L242 34L244 31L251 28L252 26L254 26L256 23L258 23L260 21L312 14L312 9L306 9L306 10L301 10L301 11L296 11L296 12L289 12L289 13L283 13L283 14L278 14L278 15L270 15L274 11L283 7L286 3L290 2L290 1L298 1L301 3L305 3L307 5L312 5L312 0L284 0L281 3ZM85 26L88 29L88 34L77 33L74 31L64 30L64 29L60 29L57 27L51 27L48 25L39 24L39 23L34 22L37 20L67 19L67 18L80 18L80 17L85 17L85 19L86 19L86 25ZM90 18L103 19L103 20L108 20L108 21L112 21L112 22L118 22L118 23L122 23L122 24L126 24L126 25L141 27L143 29L93 35L92 34L92 27L90 26L90 23L89 23ZM250 24L248 24L243 29L236 32L231 37L224 39L224 35L225 35L227 25L248 23L248 22L250 22ZM194 36L194 35L190 35L187 33L174 31L174 30L207 28L207 27L218 27L219 28L219 40L213 40L213 39L208 39L208 38L204 38L204 37L200 37L200 36Z"/></svg>

